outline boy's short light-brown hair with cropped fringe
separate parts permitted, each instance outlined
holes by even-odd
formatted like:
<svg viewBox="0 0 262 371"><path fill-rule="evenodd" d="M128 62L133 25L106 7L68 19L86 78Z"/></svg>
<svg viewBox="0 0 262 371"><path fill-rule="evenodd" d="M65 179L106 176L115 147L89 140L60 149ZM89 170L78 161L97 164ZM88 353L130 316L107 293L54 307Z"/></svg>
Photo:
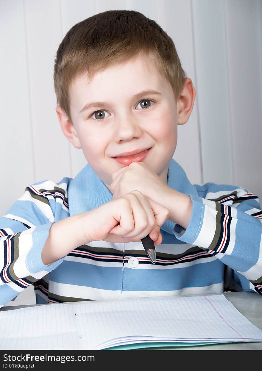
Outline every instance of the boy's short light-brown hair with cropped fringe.
<svg viewBox="0 0 262 371"><path fill-rule="evenodd" d="M95 73L126 62L139 53L151 54L158 72L170 82L175 100L179 98L186 74L174 42L154 21L133 10L109 10L95 14L67 32L54 64L57 105L70 114L70 87L84 73Z"/></svg>

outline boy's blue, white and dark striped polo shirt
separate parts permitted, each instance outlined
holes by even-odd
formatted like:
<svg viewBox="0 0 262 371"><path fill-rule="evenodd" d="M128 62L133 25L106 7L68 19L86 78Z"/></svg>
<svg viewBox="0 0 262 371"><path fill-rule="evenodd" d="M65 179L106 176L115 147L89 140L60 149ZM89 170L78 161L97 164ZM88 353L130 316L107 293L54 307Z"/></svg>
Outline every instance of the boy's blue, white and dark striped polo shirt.
<svg viewBox="0 0 262 371"><path fill-rule="evenodd" d="M74 178L30 185L0 218L0 306L33 284L36 303L262 293L262 211L242 187L192 185L172 159L167 185L192 200L187 229L167 220L152 264L141 242L93 241L44 265L51 225L112 200L90 165Z"/></svg>

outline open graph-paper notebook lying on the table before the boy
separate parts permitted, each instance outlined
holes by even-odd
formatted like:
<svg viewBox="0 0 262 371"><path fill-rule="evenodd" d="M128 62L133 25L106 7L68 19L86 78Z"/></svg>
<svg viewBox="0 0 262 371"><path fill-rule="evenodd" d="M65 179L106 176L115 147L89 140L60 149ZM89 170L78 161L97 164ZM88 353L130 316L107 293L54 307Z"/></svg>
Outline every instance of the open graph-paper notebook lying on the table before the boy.
<svg viewBox="0 0 262 371"><path fill-rule="evenodd" d="M0 312L0 349L127 349L262 341L224 295L48 304Z"/></svg>

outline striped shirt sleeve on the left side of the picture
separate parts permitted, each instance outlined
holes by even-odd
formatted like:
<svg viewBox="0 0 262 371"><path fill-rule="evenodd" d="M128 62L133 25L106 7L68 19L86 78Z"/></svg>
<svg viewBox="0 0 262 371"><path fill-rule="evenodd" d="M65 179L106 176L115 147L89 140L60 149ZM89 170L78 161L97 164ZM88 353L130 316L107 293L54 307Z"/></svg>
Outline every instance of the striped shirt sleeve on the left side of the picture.
<svg viewBox="0 0 262 371"><path fill-rule="evenodd" d="M69 216L69 180L27 187L0 217L0 308L63 262L64 258L44 265L41 252L51 225Z"/></svg>

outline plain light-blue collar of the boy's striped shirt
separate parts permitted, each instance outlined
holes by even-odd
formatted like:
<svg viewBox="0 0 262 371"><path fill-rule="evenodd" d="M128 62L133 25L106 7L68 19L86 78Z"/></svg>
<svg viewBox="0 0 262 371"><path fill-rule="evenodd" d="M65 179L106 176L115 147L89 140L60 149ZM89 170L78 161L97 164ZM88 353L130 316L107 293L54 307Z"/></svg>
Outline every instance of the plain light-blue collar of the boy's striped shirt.
<svg viewBox="0 0 262 371"><path fill-rule="evenodd" d="M197 196L196 188L189 182L185 171L173 158L168 165L167 185L181 193ZM112 199L112 193L103 181L97 177L89 164L69 184L68 203L70 216L93 210L108 201L112 201ZM174 223L166 220L161 229L173 234L174 226Z"/></svg>

